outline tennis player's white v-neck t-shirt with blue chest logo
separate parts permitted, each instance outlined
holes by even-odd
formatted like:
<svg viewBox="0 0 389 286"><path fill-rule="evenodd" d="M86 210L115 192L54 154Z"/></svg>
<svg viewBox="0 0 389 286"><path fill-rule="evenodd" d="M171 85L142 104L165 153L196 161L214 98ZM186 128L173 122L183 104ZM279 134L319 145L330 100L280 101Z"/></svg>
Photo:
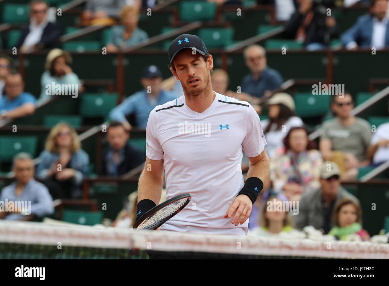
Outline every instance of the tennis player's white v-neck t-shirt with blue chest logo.
<svg viewBox="0 0 389 286"><path fill-rule="evenodd" d="M146 128L146 155L163 159L166 199L190 193L191 202L160 229L246 235L249 220L235 226L224 218L244 185L242 149L255 157L266 140L259 117L245 101L216 93L202 113L185 104L185 96L157 105Z"/></svg>

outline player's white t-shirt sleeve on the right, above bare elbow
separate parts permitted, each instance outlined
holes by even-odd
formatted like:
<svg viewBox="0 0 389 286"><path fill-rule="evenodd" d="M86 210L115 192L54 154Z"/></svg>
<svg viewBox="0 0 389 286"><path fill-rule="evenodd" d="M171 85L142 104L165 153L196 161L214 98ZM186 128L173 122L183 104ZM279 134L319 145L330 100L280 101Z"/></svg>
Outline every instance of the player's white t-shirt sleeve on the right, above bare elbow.
<svg viewBox="0 0 389 286"><path fill-rule="evenodd" d="M251 104L249 104L246 118L246 136L242 146L247 157L258 156L266 146L265 133L263 133L259 116Z"/></svg>

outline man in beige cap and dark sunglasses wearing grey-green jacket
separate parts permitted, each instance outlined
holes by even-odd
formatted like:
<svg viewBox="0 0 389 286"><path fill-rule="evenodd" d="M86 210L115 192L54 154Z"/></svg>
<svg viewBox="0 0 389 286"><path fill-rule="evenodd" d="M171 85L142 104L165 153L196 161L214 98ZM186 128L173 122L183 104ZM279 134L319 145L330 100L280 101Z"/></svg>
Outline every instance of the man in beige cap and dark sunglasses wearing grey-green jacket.
<svg viewBox="0 0 389 286"><path fill-rule="evenodd" d="M356 197L340 186L340 170L335 162L325 161L320 170L321 188L306 192L301 196L299 214L294 215L297 229L313 226L324 234L334 226L331 219L334 205L342 198L359 202Z"/></svg>

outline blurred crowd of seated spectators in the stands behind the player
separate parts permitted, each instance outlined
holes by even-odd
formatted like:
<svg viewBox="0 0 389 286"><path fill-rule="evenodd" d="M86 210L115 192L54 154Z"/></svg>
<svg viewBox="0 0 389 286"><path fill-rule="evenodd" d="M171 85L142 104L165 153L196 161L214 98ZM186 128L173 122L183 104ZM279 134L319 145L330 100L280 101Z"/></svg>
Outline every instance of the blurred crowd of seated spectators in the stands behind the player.
<svg viewBox="0 0 389 286"><path fill-rule="evenodd" d="M214 2L236 5L240 1ZM329 40L339 37L346 49L389 46L387 0L372 0L368 14L341 35L335 18L325 16L322 11L322 7L333 7L333 1L322 1L320 5L312 0L257 2L275 5L277 21L286 28L285 37L303 42L309 50L322 49L328 46ZM82 17L85 25L112 25L106 47L108 52L117 52L148 39L147 33L138 28L139 9L158 3L158 0L88 0ZM346 4L351 5L345 1ZM31 3L30 23L23 28L17 44L21 51L50 48L62 35L61 27L47 19L47 9L46 2ZM268 109L268 116L261 119L261 124L270 157L270 177L253 206L249 235L303 238L304 234L314 233L313 227L334 239L369 240L362 226L360 203L341 182L355 180L360 168L376 167L389 160L389 122L371 132L366 120L352 115L355 103L349 92L332 95L331 114L322 123L323 133L317 144L308 139L310 132L296 116L291 95L278 92L265 105L261 104L261 98L279 89L284 82L282 70L269 67L265 49L256 44L248 46L242 60L250 72L242 76L241 90L228 90L229 76L222 69L211 73L211 81L217 93L251 103L260 118L265 105ZM77 84L79 92L83 91L77 71L71 65L72 57L67 51L54 48L47 53L38 102L52 96L47 93L46 85L53 82ZM130 130L145 129L149 113L156 105L183 94L180 82L174 77L164 79L156 65L144 67L139 80L143 89L124 99L108 114L110 123L105 134L108 144L98 162L100 176L120 177L144 163L144 152L129 143ZM36 106L37 100L25 91L23 77L16 72L12 58L0 55L0 123L31 115ZM134 116L135 124L130 124L128 116ZM10 204L15 200L31 201L32 215L0 212L0 218L42 217L53 213L53 200L80 199L82 181L89 174L89 155L81 149L74 127L58 123L47 136L39 163L35 164L27 153L14 157L15 181L0 194L0 200L7 199ZM244 155L243 174L247 172L248 162ZM136 193L129 200L129 207L118 215L112 226L128 227L134 222ZM286 201L299 203L298 214L273 210L277 202Z"/></svg>

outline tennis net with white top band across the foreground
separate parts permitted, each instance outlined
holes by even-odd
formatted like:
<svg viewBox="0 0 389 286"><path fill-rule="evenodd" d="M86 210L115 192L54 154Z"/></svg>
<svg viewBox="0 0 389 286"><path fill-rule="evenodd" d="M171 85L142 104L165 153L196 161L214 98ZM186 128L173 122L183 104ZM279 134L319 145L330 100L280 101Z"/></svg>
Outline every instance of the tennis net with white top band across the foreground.
<svg viewBox="0 0 389 286"><path fill-rule="evenodd" d="M131 255L128 249L139 249ZM169 253L185 258L387 259L389 244L245 238L103 226L0 222L0 259L148 259Z"/></svg>

